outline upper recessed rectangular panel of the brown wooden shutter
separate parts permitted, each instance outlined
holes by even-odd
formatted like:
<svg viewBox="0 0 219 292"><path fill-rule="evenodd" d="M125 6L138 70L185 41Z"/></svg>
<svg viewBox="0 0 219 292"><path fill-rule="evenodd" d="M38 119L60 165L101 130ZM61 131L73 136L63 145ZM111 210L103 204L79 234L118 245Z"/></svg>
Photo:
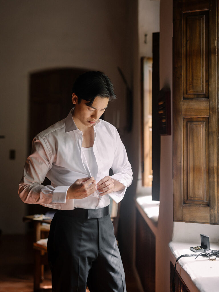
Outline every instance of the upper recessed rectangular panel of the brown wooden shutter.
<svg viewBox="0 0 219 292"><path fill-rule="evenodd" d="M208 11L183 14L183 98L208 98Z"/></svg>

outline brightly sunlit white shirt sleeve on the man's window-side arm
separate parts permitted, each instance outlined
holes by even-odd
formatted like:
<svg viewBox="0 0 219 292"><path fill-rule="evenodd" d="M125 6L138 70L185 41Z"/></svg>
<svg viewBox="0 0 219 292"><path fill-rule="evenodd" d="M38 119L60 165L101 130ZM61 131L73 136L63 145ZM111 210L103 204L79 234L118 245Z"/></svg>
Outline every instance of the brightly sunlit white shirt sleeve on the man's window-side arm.
<svg viewBox="0 0 219 292"><path fill-rule="evenodd" d="M109 196L119 203L126 192L126 188L131 185L132 182L132 170L131 164L128 161L127 153L124 144L121 141L119 133L116 131L116 148L114 152L114 159L112 164L113 175L112 179L118 180L125 188L121 191L112 192Z"/></svg>

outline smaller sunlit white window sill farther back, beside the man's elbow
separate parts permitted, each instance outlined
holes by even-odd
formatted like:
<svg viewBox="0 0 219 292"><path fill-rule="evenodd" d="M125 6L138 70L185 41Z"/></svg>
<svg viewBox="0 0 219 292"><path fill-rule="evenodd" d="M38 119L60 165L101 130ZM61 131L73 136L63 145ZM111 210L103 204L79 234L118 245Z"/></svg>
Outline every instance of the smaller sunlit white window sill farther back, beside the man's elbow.
<svg viewBox="0 0 219 292"><path fill-rule="evenodd" d="M137 194L135 205L156 236L160 202L152 201L152 195Z"/></svg>

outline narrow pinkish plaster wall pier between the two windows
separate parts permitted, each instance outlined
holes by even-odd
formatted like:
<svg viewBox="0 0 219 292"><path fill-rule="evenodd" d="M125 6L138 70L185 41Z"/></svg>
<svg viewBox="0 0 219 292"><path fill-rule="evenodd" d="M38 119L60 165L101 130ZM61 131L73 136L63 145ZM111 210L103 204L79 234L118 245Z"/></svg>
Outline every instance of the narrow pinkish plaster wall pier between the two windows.
<svg viewBox="0 0 219 292"><path fill-rule="evenodd" d="M171 90L172 107L172 0L160 1L160 89ZM172 119L172 118L171 118ZM173 232L172 135L161 136L160 209L156 237L156 292L170 289L168 243Z"/></svg>

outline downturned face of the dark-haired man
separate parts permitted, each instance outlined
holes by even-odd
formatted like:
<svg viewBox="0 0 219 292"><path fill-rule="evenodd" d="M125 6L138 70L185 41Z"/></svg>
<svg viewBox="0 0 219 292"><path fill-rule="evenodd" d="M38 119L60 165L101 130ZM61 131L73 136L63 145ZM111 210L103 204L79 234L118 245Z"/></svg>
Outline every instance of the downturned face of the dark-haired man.
<svg viewBox="0 0 219 292"><path fill-rule="evenodd" d="M91 106L87 106L87 101L82 99L78 103L77 96L73 93L72 102L75 105L73 111L73 118L76 126L80 128L91 127L102 116L107 108L109 98L102 98L97 96Z"/></svg>

